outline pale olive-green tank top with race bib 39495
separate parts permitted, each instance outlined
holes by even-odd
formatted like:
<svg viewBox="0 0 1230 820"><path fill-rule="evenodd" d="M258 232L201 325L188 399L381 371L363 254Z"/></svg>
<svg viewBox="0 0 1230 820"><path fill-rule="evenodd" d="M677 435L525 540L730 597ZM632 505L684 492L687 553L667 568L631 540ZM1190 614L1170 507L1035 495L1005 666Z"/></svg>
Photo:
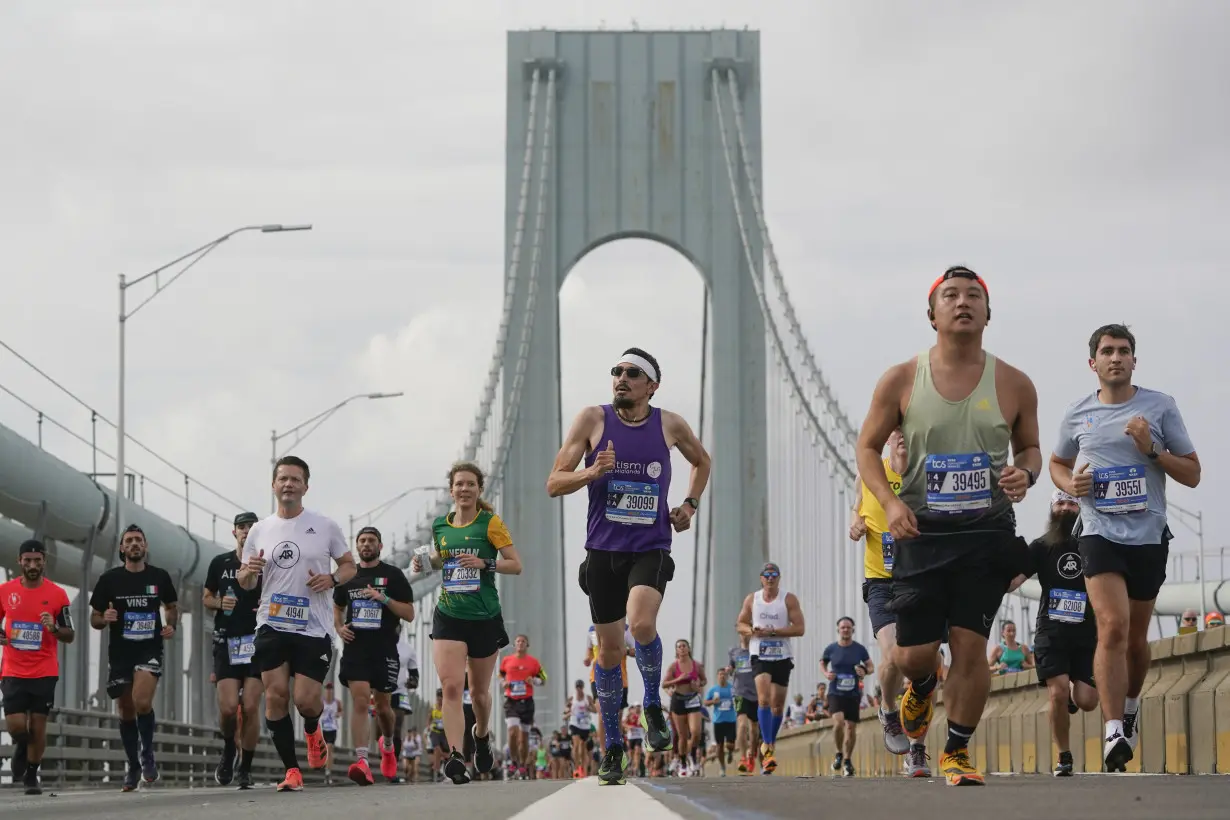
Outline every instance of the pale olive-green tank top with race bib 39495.
<svg viewBox="0 0 1230 820"><path fill-rule="evenodd" d="M1000 413L995 357L986 354L973 392L950 402L935 388L930 352L919 354L902 433L909 468L900 499L920 532L1015 527L1012 503L999 488L1012 429Z"/></svg>

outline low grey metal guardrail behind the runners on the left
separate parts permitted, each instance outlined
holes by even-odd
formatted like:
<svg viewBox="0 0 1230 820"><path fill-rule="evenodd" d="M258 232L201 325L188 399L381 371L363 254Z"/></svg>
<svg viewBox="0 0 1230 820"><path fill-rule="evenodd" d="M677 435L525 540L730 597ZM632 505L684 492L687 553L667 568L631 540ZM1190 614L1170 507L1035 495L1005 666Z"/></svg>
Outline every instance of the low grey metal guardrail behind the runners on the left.
<svg viewBox="0 0 1230 820"><path fill-rule="evenodd" d="M247 718L245 718L247 719ZM256 719L264 722L263 712ZM200 788L216 786L214 768L221 756L223 741L216 727L160 720L154 733L154 754L161 783L175 787ZM305 783L323 783L322 770L306 767L308 746L296 741L304 761ZM0 759L12 757L12 745L0 745ZM357 760L349 750L333 747L333 776L346 779L346 768ZM47 722L47 751L43 755L44 788L65 789L112 784L119 788L128 767L128 757L119 740L119 716L109 712L53 709ZM4 767L9 779L9 766ZM257 783L278 783L285 768L273 743L262 734L252 759L252 779Z"/></svg>

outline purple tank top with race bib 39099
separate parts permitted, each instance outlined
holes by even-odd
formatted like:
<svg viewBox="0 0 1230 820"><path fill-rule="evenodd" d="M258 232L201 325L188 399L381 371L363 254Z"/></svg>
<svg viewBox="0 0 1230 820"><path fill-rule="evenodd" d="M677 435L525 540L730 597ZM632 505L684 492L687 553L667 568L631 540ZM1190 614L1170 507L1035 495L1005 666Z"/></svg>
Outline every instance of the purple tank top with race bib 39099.
<svg viewBox="0 0 1230 820"><path fill-rule="evenodd" d="M603 438L615 445L615 470L589 484L589 524L585 548L604 552L670 550L670 450L662 433L662 411L649 412L643 424L629 427L603 404ZM585 454L589 467L598 450Z"/></svg>

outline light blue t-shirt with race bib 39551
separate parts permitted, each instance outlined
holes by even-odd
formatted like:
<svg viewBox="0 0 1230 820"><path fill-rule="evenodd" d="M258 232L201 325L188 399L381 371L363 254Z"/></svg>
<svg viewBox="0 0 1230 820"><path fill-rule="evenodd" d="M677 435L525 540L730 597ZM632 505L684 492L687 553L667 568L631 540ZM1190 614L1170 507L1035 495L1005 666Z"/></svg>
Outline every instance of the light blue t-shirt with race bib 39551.
<svg viewBox="0 0 1230 820"><path fill-rule="evenodd" d="M1125 430L1137 416L1149 422L1157 450L1196 451L1178 404L1166 393L1137 387L1122 404L1103 404L1097 392L1070 404L1059 424L1055 455L1085 461L1093 492L1080 499L1081 535L1123 545L1161 543L1166 530L1166 471L1137 449ZM1141 481L1143 479L1143 481Z"/></svg>

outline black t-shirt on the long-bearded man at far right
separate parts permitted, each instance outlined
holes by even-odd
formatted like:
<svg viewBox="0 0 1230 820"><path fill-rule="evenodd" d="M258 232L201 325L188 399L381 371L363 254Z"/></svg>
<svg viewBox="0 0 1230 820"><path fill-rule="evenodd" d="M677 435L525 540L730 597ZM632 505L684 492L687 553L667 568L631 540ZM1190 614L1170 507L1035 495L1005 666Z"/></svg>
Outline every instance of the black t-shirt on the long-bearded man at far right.
<svg viewBox="0 0 1230 820"><path fill-rule="evenodd" d="M1038 639L1044 637L1093 643L1097 622L1085 591L1085 562L1076 538L1049 545L1037 538L1030 545L1030 574L1042 585L1038 601Z"/></svg>

